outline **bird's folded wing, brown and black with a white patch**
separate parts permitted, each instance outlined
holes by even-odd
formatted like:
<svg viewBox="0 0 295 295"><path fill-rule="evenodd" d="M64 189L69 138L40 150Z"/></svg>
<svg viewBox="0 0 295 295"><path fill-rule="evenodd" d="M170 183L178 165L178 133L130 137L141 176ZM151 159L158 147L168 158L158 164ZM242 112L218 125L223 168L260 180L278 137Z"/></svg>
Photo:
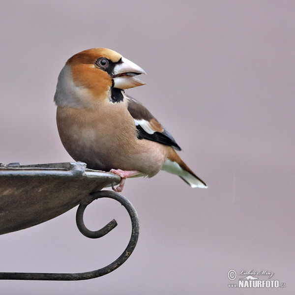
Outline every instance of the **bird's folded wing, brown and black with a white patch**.
<svg viewBox="0 0 295 295"><path fill-rule="evenodd" d="M127 102L128 111L134 118L139 139L148 139L181 150L172 135L151 115L144 105L130 96L127 97Z"/></svg>

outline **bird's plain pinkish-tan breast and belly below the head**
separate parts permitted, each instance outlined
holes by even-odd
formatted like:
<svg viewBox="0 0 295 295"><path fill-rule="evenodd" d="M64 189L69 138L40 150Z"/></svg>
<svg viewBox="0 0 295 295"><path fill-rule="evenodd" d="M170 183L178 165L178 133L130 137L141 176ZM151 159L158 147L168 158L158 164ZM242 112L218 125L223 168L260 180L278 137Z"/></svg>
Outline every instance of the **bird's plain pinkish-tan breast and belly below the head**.
<svg viewBox="0 0 295 295"><path fill-rule="evenodd" d="M139 170L153 176L162 167L162 145L137 139L133 118L124 105L99 110L58 107L57 123L64 148L91 169ZM156 146L156 147L155 147Z"/></svg>

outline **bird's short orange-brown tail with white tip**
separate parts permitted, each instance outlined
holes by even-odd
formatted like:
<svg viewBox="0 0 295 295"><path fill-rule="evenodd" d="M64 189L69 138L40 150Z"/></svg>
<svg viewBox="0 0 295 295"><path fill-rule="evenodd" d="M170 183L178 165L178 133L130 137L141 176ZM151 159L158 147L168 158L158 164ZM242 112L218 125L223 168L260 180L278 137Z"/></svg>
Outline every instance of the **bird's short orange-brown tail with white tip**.
<svg viewBox="0 0 295 295"><path fill-rule="evenodd" d="M191 187L207 188L207 184L181 160L175 150L170 152L168 159L165 161L162 170L176 174L182 178Z"/></svg>

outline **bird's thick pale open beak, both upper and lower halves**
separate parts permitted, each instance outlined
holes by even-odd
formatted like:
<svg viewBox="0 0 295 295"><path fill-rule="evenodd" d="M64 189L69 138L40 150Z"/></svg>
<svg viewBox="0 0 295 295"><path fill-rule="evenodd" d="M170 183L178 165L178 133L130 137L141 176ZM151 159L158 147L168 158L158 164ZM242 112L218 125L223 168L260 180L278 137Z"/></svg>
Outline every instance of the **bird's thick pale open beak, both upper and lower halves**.
<svg viewBox="0 0 295 295"><path fill-rule="evenodd" d="M141 67L129 59L121 58L121 62L115 65L113 71L114 88L128 89L146 83L135 78L137 75L147 74Z"/></svg>

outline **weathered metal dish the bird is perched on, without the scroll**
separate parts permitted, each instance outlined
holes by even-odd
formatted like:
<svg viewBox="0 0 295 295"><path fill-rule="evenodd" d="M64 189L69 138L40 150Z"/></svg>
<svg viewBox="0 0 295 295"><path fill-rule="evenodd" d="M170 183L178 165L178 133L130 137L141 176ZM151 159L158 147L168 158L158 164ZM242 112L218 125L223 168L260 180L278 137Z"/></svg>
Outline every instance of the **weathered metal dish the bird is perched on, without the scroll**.
<svg viewBox="0 0 295 295"><path fill-rule="evenodd" d="M0 166L0 235L37 225L79 205L90 193L117 184L112 173L81 162Z"/></svg>

